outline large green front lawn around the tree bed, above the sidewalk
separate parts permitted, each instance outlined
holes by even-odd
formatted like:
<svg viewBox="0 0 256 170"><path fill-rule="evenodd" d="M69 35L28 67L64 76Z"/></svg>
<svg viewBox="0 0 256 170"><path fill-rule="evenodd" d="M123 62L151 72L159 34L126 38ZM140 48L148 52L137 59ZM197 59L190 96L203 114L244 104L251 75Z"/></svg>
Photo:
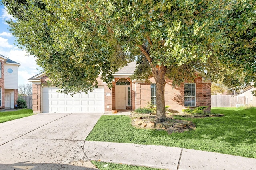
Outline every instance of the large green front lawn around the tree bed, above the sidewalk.
<svg viewBox="0 0 256 170"><path fill-rule="evenodd" d="M256 158L256 108L213 108L212 113L225 116L176 116L192 121L196 130L171 135L164 130L133 127L128 116L104 115L86 140L164 145Z"/></svg>

